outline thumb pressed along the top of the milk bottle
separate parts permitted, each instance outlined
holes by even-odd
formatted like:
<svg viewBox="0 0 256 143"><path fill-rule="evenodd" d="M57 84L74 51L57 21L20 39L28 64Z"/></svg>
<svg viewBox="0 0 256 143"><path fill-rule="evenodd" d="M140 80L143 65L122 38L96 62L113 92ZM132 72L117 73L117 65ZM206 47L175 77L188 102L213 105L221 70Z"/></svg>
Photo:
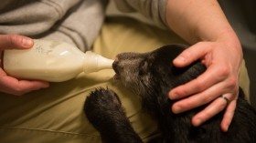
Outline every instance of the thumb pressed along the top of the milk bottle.
<svg viewBox="0 0 256 143"><path fill-rule="evenodd" d="M33 46L33 40L27 36L0 35L0 50L21 49Z"/></svg>

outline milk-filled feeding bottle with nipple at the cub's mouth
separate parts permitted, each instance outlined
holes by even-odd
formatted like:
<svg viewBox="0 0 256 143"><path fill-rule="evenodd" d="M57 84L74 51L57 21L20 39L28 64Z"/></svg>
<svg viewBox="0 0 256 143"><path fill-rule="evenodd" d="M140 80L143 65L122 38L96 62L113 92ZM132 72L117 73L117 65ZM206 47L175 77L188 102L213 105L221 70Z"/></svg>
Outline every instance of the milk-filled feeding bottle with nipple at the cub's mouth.
<svg viewBox="0 0 256 143"><path fill-rule="evenodd" d="M83 53L65 42L35 39L30 49L5 50L3 65L12 77L61 82L81 72L112 68L112 62L91 51Z"/></svg>

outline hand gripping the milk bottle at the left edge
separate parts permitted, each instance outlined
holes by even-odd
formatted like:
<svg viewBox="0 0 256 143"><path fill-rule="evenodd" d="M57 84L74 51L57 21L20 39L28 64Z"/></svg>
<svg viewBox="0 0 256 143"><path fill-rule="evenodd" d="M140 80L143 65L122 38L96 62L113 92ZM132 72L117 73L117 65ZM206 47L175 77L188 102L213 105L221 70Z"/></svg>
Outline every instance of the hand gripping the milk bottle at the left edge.
<svg viewBox="0 0 256 143"><path fill-rule="evenodd" d="M21 96L27 92L48 87L48 82L18 80L9 77L2 63L3 51L5 49L26 49L33 46L33 40L26 36L0 35L0 92Z"/></svg>

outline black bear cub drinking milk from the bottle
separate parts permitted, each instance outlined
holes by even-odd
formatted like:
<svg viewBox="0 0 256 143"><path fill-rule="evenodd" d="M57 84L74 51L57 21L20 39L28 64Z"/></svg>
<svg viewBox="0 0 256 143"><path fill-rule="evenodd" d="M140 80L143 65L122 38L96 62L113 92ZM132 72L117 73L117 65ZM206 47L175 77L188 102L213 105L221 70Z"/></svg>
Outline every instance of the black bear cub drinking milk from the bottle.
<svg viewBox="0 0 256 143"><path fill-rule="evenodd" d="M150 142L256 143L256 111L245 100L241 89L228 132L222 132L219 128L223 112L200 127L192 126L191 117L207 105L181 114L171 111L175 101L167 97L168 91L206 70L199 61L184 68L172 65L173 59L185 48L183 45L167 45L149 53L122 53L112 64L115 78L140 96L143 108L158 122L161 137ZM120 99L110 89L92 91L85 101L84 113L100 132L104 143L143 142L125 116Z"/></svg>

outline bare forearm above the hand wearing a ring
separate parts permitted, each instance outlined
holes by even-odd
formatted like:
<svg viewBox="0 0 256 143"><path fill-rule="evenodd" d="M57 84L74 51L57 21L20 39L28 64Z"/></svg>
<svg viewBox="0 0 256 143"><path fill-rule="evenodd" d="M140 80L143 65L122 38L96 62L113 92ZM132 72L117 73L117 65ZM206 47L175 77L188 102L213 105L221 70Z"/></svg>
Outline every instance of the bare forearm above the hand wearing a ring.
<svg viewBox="0 0 256 143"><path fill-rule="evenodd" d="M232 41L240 45L217 0L168 0L166 22L191 44Z"/></svg>

